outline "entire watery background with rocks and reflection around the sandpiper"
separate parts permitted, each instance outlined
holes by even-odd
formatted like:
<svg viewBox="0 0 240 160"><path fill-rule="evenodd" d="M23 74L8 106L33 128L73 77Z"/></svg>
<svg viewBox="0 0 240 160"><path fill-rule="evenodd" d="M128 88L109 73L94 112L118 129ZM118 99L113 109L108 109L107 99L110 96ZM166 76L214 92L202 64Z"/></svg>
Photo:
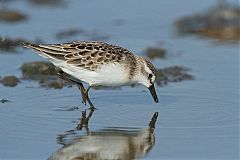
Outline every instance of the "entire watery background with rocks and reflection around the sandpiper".
<svg viewBox="0 0 240 160"><path fill-rule="evenodd" d="M151 59L97 108L22 43L104 41ZM239 159L236 0L0 0L0 159Z"/></svg>

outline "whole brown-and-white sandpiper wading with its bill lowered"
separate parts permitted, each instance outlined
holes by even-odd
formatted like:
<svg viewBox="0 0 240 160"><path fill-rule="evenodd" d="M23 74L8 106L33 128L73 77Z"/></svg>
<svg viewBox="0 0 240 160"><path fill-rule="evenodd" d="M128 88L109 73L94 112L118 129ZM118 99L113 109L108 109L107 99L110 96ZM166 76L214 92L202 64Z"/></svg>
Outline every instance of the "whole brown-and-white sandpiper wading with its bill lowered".
<svg viewBox="0 0 240 160"><path fill-rule="evenodd" d="M142 84L154 101L158 97L154 87L156 69L144 57L134 55L127 49L98 41L78 41L63 44L23 44L39 51L61 71L59 77L76 84L81 91L83 103L88 101L94 109L88 92L92 86L121 86ZM87 89L82 82L89 84Z"/></svg>

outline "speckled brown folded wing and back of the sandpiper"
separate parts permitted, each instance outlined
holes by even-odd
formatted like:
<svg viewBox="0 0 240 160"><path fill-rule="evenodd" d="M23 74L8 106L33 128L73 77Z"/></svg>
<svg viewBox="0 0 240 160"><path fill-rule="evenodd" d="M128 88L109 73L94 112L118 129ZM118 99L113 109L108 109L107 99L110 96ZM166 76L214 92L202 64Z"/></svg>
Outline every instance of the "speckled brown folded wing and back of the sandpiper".
<svg viewBox="0 0 240 160"><path fill-rule="evenodd" d="M104 42L80 41L55 45L27 45L27 47L34 48L53 59L64 60L68 64L89 70L95 70L110 62L136 63L134 55L127 49Z"/></svg>

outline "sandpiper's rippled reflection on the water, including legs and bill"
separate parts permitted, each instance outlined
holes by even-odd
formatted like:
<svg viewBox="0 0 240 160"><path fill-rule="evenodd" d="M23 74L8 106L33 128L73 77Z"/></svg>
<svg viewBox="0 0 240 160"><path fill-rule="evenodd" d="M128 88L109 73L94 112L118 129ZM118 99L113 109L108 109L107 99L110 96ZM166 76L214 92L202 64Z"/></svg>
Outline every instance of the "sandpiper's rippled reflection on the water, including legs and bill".
<svg viewBox="0 0 240 160"><path fill-rule="evenodd" d="M144 157L154 146L154 129L158 117L155 112L148 128L111 127L91 132L88 122L94 111L82 119L75 130L58 136L63 147L53 153L49 160L132 160ZM86 135L77 135L76 130L86 129ZM70 137L70 138L69 138Z"/></svg>

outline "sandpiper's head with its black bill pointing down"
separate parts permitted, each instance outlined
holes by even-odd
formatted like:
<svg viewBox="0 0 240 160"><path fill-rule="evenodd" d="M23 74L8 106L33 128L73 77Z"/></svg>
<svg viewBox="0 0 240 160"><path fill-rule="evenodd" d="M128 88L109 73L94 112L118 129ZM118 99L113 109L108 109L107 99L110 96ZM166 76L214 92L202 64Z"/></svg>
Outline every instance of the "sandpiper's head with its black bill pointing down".
<svg viewBox="0 0 240 160"><path fill-rule="evenodd" d="M144 57L140 57L140 64L138 83L146 86L149 89L154 101L158 103L158 97L154 87L156 69L153 64Z"/></svg>

